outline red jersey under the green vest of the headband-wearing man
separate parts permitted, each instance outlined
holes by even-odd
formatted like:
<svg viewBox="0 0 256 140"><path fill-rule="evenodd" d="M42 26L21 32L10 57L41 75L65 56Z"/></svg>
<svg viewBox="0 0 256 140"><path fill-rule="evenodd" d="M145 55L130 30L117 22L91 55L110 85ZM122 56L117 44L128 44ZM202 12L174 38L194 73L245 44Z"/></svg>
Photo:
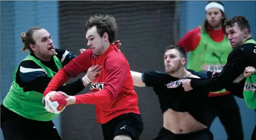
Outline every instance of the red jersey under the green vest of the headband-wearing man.
<svg viewBox="0 0 256 140"><path fill-rule="evenodd" d="M208 35L210 38L212 38L215 42L221 42L225 37L225 32L220 30L213 30L210 29L208 31ZM190 31L188 31L183 38L180 39L180 41L177 43L177 45L182 46L185 48L187 52L193 51L196 49L196 47L199 45L201 39L201 29L199 27L196 27ZM215 97L215 96L222 96L225 94L229 94L229 91L226 92L220 92L218 94L215 93L209 93L209 97Z"/></svg>

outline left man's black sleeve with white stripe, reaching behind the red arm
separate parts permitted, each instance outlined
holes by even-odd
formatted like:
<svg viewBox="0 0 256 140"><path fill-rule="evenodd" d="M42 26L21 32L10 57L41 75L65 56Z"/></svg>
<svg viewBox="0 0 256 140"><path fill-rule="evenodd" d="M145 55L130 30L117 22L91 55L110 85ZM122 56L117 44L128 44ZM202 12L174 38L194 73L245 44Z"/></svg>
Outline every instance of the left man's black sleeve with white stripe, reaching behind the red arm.
<svg viewBox="0 0 256 140"><path fill-rule="evenodd" d="M23 61L19 66L16 81L23 87L24 92L35 91L44 94L46 87L52 78L46 75L44 69L33 61ZM84 89L82 79L61 86L57 91L65 92L68 95L75 95Z"/></svg>

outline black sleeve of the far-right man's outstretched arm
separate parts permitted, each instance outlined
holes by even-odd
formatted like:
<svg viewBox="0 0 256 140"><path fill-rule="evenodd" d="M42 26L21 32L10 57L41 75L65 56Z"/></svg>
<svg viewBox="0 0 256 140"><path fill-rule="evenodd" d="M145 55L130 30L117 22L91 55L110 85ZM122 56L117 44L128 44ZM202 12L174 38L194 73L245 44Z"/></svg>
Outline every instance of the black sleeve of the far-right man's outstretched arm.
<svg viewBox="0 0 256 140"><path fill-rule="evenodd" d="M205 89L209 92L216 92L224 89L232 83L247 67L247 52L241 47L235 48L229 54L227 64L217 76L209 79L192 79L191 87L193 89Z"/></svg>

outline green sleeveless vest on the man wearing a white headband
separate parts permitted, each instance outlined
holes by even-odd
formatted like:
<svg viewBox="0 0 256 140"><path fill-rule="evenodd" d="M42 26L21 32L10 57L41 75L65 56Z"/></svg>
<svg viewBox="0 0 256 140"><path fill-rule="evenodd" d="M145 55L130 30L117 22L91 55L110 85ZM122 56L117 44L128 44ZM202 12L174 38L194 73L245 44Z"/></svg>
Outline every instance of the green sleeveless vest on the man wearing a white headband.
<svg viewBox="0 0 256 140"><path fill-rule="evenodd" d="M225 36L221 42L215 42L207 32L204 32L201 27L199 28L201 29L201 39L196 49L189 52L187 69L195 71L222 70L232 51L228 38ZM226 92L226 90L211 93L218 94L219 92Z"/></svg>

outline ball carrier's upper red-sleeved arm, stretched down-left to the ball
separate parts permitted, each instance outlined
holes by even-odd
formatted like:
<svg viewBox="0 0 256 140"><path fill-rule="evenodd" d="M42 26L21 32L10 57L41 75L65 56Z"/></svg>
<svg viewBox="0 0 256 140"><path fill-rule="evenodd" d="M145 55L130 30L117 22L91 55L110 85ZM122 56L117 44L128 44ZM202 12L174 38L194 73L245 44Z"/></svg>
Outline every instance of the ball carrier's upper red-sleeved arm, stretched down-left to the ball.
<svg viewBox="0 0 256 140"><path fill-rule="evenodd" d="M52 91L56 91L60 86L68 81L71 77L76 77L77 75L87 71L91 67L91 49L84 51L78 57L72 59L67 65L62 67L56 75L49 82L47 88L44 91L44 96Z"/></svg>

